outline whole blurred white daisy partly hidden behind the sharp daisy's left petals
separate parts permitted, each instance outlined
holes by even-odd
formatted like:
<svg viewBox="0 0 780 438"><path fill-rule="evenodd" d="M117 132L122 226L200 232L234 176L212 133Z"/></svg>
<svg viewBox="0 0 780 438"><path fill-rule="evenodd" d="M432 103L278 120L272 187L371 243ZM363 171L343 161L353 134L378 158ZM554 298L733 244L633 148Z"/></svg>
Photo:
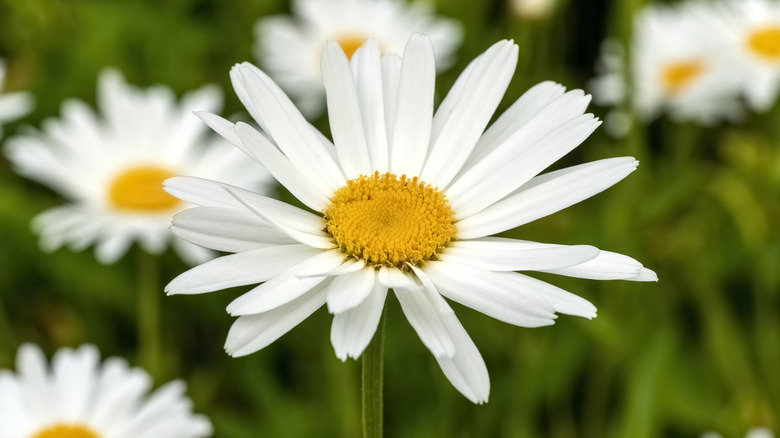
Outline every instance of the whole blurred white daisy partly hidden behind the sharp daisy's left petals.
<svg viewBox="0 0 780 438"><path fill-rule="evenodd" d="M188 206L162 190L175 175L197 175L259 187L270 176L221 138L207 137L194 109L218 111L222 93L203 87L177 103L162 86L141 90L115 70L101 73L96 115L84 102L66 101L62 117L43 132L9 139L6 155L16 171L48 185L71 203L33 220L41 246L95 243L101 263L113 263L133 241L150 253L171 240L170 216ZM193 264L210 252L178 238L173 246Z"/></svg>

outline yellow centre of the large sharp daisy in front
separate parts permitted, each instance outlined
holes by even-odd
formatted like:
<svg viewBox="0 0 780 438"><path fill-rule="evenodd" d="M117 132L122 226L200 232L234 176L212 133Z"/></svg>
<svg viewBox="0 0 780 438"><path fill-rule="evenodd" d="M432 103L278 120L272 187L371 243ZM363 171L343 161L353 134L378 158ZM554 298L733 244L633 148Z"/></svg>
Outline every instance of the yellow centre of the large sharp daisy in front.
<svg viewBox="0 0 780 438"><path fill-rule="evenodd" d="M328 233L343 253L368 264L417 265L455 235L447 197L417 177L375 172L348 181L330 200Z"/></svg>

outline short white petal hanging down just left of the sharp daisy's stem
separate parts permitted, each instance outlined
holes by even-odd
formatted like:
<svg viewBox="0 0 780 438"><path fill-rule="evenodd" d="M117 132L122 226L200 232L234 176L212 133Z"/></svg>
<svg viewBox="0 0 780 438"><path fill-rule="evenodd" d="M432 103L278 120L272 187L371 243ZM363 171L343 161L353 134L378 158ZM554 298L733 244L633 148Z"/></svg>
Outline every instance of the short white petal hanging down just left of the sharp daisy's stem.
<svg viewBox="0 0 780 438"><path fill-rule="evenodd" d="M333 316L330 341L336 357L357 359L366 349L379 326L385 308L387 288L378 281L360 305Z"/></svg>

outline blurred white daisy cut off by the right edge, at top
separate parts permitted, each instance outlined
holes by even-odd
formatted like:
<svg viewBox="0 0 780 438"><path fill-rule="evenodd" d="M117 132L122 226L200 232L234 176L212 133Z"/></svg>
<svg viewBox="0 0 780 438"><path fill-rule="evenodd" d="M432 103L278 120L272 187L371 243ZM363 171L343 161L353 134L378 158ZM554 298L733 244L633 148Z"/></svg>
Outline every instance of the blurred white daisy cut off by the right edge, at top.
<svg viewBox="0 0 780 438"><path fill-rule="evenodd" d="M733 31L724 48L743 69L742 87L756 111L772 107L780 89L780 2L737 0L732 9Z"/></svg>

